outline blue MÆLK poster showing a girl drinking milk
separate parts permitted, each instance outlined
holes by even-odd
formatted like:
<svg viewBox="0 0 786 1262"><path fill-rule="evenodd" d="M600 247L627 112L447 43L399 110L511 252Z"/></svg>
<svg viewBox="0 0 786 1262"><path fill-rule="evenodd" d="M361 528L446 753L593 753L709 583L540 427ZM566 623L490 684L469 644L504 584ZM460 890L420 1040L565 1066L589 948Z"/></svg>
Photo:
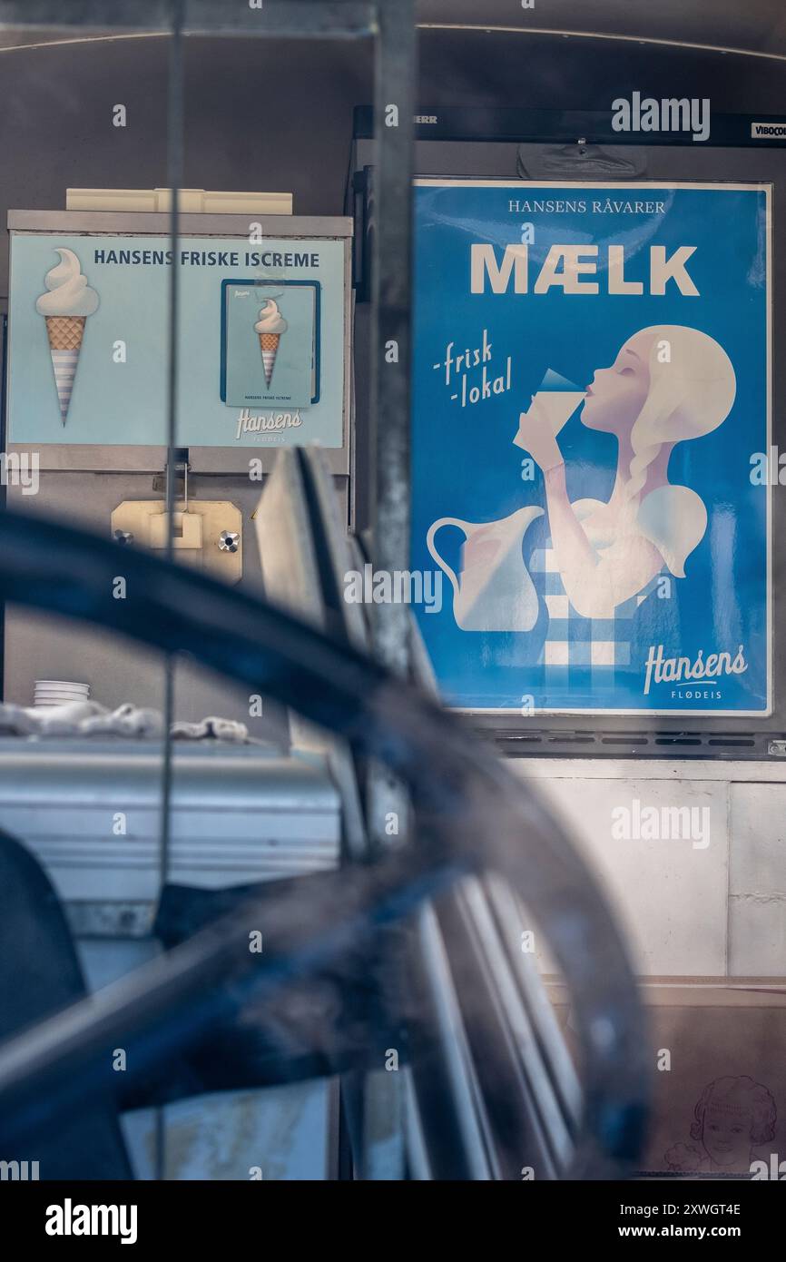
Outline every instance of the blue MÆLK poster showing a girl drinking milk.
<svg viewBox="0 0 786 1262"><path fill-rule="evenodd" d="M449 704L771 709L771 188L415 187L413 570Z"/></svg>

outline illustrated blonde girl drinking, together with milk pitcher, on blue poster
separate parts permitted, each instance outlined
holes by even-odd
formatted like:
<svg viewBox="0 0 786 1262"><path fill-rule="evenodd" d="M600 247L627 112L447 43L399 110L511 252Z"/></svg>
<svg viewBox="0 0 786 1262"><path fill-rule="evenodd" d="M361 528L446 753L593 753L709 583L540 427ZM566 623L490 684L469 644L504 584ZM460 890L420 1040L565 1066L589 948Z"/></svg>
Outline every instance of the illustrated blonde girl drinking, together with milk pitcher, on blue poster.
<svg viewBox="0 0 786 1262"><path fill-rule="evenodd" d="M575 636L578 616L604 626L601 636L589 634L584 644L588 660L580 664L623 665L614 658L619 641L608 625L621 615L630 616L664 567L675 578L684 578L685 562L707 530L701 497L690 487L669 482L671 452L676 443L717 429L736 392L730 360L714 338L675 324L641 329L625 342L609 367L595 370L580 413L588 429L617 438L611 497L573 502L558 437L546 405L536 395L520 416L513 443L543 471L550 539L525 568L521 541L530 521L540 516L539 509L520 509L483 525L448 517L434 522L428 545L453 583L459 626L531 630L539 613L531 573L545 573L544 601L550 616L545 664L570 664L569 645L582 642ZM437 531L447 524L460 526L467 535L460 583L434 548ZM560 634L563 620L572 620L570 637L566 631Z"/></svg>

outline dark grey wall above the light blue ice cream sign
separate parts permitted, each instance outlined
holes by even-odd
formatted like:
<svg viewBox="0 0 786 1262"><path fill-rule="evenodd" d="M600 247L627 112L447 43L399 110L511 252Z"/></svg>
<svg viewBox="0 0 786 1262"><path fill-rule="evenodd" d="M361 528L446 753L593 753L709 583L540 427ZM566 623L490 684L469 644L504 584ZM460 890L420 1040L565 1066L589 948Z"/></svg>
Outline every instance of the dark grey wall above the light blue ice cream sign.
<svg viewBox="0 0 786 1262"><path fill-rule="evenodd" d="M367 43L187 40L185 170L192 188L293 192L300 215L341 213L352 106L368 97ZM0 53L0 220L64 209L66 189L167 180L168 40ZM127 127L112 126L112 106ZM0 249L0 302L8 244Z"/></svg>

